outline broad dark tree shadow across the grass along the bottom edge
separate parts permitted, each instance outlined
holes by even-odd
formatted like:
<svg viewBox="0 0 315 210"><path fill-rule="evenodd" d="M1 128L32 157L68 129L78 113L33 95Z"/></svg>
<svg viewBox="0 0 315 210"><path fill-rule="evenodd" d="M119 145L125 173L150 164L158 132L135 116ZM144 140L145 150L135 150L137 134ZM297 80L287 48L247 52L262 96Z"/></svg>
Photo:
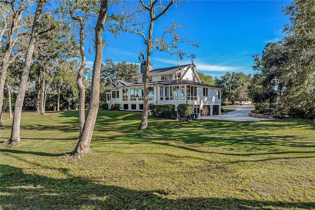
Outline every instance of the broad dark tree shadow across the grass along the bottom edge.
<svg viewBox="0 0 315 210"><path fill-rule="evenodd" d="M171 198L165 189L131 190L81 177L54 179L25 174L19 168L0 165L3 210L262 210L312 209L314 202L256 201L235 198ZM174 197L174 196L173 196Z"/></svg>

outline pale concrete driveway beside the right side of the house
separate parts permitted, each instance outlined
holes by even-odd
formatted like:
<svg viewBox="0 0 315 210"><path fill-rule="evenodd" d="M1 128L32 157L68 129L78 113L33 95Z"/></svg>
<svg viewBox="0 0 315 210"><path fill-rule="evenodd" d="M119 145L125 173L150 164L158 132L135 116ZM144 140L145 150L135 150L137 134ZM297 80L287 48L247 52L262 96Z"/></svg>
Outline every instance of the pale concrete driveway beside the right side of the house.
<svg viewBox="0 0 315 210"><path fill-rule="evenodd" d="M254 121L254 120L272 120L263 118L253 118L248 115L249 112L254 110L253 106L224 106L226 109L236 109L235 111L225 113L223 115L213 116L199 116L199 119L212 119L212 120L229 120L229 121Z"/></svg>

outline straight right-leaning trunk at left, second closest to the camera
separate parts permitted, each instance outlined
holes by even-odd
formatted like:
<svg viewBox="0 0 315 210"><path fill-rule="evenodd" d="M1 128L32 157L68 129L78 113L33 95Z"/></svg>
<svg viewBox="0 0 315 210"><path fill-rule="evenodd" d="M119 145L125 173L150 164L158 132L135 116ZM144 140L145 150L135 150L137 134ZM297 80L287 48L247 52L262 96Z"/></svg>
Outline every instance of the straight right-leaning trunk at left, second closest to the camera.
<svg viewBox="0 0 315 210"><path fill-rule="evenodd" d="M16 143L21 142L20 124L21 124L22 106L23 106L24 97L25 97L26 83L27 83L27 80L29 77L30 67L31 67L31 62L32 62L32 55L34 52L36 37L38 35L38 25L39 25L39 20L40 20L40 14L42 12L42 9L43 9L46 1L47 0L38 0L37 1L37 8L36 8L36 12L34 15L34 23L32 26L32 34L31 34L29 49L28 49L28 52L26 54L24 67L22 69L19 92L18 92L18 95L16 97L16 104L14 106L14 117L13 117L11 137L8 141L9 145L15 145Z"/></svg>

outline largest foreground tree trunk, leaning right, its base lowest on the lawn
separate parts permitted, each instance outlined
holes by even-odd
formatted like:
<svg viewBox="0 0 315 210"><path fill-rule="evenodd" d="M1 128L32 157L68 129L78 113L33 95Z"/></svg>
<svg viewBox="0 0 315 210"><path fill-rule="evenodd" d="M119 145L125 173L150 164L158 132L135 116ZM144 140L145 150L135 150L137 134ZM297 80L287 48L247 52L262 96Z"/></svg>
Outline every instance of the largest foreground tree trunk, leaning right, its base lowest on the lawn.
<svg viewBox="0 0 315 210"><path fill-rule="evenodd" d="M103 31L104 22L106 19L108 9L108 1L100 1L100 10L95 27L95 60L93 65L92 86L91 86L91 100L90 107L85 120L82 132L80 133L78 144L71 152L71 156L75 159L80 159L82 155L90 151L90 144L92 140L93 130L99 106L99 75L100 67L103 59Z"/></svg>

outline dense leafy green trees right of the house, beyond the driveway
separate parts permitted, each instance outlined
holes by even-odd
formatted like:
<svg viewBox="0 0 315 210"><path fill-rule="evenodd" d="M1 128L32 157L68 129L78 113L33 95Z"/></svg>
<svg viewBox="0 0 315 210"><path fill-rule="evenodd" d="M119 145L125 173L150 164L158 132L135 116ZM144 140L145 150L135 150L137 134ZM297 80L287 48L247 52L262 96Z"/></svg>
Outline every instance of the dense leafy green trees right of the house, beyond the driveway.
<svg viewBox="0 0 315 210"><path fill-rule="evenodd" d="M259 107L315 120L315 1L294 0L284 8L286 36L253 56L257 73L226 73L215 78L222 100L252 100Z"/></svg>

